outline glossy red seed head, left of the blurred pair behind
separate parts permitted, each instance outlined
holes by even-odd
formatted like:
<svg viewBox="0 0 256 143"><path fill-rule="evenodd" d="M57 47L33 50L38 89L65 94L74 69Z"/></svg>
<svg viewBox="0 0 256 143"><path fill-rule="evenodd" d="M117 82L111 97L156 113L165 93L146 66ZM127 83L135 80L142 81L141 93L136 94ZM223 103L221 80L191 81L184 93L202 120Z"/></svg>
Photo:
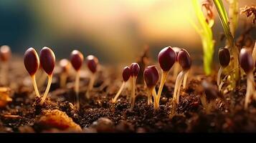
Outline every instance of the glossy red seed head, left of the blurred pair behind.
<svg viewBox="0 0 256 143"><path fill-rule="evenodd" d="M81 69L83 60L84 60L84 56L80 51L77 51L77 50L72 51L70 55L70 62L76 71Z"/></svg>

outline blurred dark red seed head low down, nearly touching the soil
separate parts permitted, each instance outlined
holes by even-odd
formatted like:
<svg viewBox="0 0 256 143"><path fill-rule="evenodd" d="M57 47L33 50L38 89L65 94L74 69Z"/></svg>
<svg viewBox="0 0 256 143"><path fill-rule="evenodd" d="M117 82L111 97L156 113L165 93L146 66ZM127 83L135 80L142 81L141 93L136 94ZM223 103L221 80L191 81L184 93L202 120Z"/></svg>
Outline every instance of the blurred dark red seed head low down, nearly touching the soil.
<svg viewBox="0 0 256 143"><path fill-rule="evenodd" d="M204 88L204 93L205 93L208 101L214 100L217 97L219 97L219 91L218 91L217 87L214 87L213 84L210 84L209 82L204 80L202 82L202 87Z"/></svg>

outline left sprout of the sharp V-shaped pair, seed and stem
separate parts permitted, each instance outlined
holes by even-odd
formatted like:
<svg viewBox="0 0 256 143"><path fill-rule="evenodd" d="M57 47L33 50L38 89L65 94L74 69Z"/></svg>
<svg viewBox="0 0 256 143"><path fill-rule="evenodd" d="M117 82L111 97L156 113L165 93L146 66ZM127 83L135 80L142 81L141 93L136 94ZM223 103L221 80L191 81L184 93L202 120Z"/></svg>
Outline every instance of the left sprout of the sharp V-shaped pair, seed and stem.
<svg viewBox="0 0 256 143"><path fill-rule="evenodd" d="M39 68L39 57L37 55L37 51L34 48L29 48L24 54L24 66L29 72L29 75L32 79L34 91L36 92L36 96L40 97L38 89L37 89L37 82L35 74L37 69Z"/></svg>

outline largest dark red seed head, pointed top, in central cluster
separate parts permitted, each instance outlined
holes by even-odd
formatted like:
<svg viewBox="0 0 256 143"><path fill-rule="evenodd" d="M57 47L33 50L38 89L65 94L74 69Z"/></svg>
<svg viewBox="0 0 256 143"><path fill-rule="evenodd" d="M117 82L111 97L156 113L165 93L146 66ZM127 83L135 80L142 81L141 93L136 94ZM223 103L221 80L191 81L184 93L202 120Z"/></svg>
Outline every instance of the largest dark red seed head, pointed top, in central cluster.
<svg viewBox="0 0 256 143"><path fill-rule="evenodd" d="M163 71L169 71L176 61L176 53L171 46L162 49L158 54L158 63Z"/></svg>

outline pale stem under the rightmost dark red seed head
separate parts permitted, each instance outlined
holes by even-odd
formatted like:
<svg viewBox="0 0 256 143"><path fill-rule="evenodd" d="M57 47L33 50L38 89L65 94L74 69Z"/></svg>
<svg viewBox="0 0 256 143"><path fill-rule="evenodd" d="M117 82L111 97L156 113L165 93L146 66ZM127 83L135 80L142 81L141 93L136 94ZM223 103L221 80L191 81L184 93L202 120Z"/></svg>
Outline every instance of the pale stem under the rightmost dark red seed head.
<svg viewBox="0 0 256 143"><path fill-rule="evenodd" d="M255 94L255 86L254 86L254 77L252 71L247 74L247 89L245 94L245 109L247 109L248 104L250 104L250 100L252 96Z"/></svg>

